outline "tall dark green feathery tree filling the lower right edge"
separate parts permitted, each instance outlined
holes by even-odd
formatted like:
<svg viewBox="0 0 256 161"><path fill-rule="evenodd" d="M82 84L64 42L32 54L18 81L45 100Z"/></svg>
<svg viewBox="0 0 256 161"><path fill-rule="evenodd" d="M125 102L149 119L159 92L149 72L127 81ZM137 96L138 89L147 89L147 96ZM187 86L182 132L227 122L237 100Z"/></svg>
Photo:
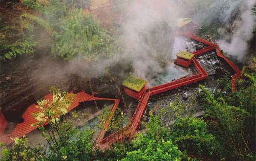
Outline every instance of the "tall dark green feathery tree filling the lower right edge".
<svg viewBox="0 0 256 161"><path fill-rule="evenodd" d="M246 68L234 93L211 93L201 86L209 129L222 145L222 156L232 160L255 157L255 130L251 127L256 120L256 69Z"/></svg>

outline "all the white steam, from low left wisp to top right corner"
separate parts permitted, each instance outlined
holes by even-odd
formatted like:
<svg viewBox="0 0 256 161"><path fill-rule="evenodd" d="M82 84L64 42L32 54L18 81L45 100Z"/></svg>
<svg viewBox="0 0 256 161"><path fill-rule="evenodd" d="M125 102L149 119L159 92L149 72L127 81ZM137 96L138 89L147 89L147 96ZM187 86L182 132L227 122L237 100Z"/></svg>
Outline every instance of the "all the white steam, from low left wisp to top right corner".
<svg viewBox="0 0 256 161"><path fill-rule="evenodd" d="M160 73L162 71L156 61L157 55L163 54L165 60L172 59L174 28L178 19L191 17L195 22L204 25L211 25L216 19L228 22L232 17L232 12L240 7L241 20L236 20L234 34L231 37L224 34L224 39L218 41L218 43L221 49L229 55L235 55L241 60L248 48L247 41L252 37L254 19L249 9L253 1L230 0L229 8L223 13L222 17L219 17L219 12L222 11L223 0L197 0L193 3L189 0L122 1L123 33L118 37L118 42L124 47L126 62L132 63L134 74L147 79L148 73ZM207 7L201 8L201 6ZM160 35L154 37L154 45L152 45L152 43L149 43L152 38L145 38L143 32L153 31L154 33L154 28L158 22L165 22L169 25L169 28L165 31L159 31ZM163 50L165 51L160 52ZM46 81L50 83L56 77L58 79L62 77L69 79L72 74L86 78L97 77L105 68L119 60L104 59L87 64L83 60L75 59L64 65L54 64L40 72L35 71L35 78L41 84ZM40 74L38 75L38 73Z"/></svg>

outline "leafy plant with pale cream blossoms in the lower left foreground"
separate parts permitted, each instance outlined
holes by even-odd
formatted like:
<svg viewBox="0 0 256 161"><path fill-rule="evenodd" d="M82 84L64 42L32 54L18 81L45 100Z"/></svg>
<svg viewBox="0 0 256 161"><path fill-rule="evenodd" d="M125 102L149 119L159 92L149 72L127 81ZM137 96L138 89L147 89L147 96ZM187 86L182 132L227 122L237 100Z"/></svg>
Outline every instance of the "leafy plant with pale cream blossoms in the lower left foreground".
<svg viewBox="0 0 256 161"><path fill-rule="evenodd" d="M67 108L74 100L73 94L51 88L53 100L37 101L41 112L35 113L39 130L46 139L50 152L47 160L89 160L93 152L92 131L75 129L72 123L61 121L61 115L67 113ZM49 123L46 134L44 123Z"/></svg>

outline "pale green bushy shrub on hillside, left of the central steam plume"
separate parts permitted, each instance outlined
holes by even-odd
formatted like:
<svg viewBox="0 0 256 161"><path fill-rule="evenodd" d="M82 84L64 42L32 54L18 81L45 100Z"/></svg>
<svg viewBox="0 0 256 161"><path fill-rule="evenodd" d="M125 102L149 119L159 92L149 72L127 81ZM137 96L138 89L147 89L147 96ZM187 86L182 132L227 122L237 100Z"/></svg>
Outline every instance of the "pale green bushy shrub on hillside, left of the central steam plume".
<svg viewBox="0 0 256 161"><path fill-rule="evenodd" d="M67 17L60 21L58 31L54 33L56 43L52 45L52 53L72 59L82 56L87 60L95 60L100 56L111 56L115 41L103 29L100 29L92 16L81 10L72 9Z"/></svg>

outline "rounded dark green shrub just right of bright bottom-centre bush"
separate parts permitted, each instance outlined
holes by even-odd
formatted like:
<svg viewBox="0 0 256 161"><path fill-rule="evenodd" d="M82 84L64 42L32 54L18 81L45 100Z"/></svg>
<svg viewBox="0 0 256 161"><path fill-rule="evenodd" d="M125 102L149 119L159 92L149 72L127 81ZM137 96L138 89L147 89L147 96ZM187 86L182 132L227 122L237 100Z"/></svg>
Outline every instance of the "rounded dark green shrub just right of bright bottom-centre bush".
<svg viewBox="0 0 256 161"><path fill-rule="evenodd" d="M206 123L193 117L177 119L171 138L180 150L190 155L212 156L219 147L215 137L208 133Z"/></svg>

